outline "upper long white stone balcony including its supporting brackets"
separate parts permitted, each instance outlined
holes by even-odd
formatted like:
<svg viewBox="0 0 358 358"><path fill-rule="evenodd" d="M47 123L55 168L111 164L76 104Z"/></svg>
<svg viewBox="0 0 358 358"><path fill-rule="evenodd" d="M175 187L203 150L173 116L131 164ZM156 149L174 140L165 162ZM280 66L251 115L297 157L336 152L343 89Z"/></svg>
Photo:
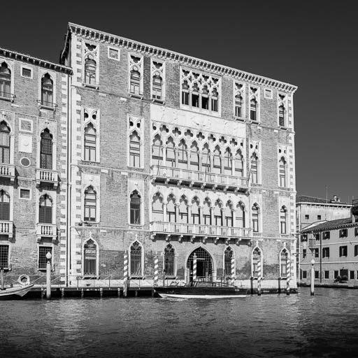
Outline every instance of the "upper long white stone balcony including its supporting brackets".
<svg viewBox="0 0 358 358"><path fill-rule="evenodd" d="M155 181L186 182L190 187L199 185L204 187L222 187L222 189L233 189L234 191L248 189L248 178L237 176L227 176L203 171L192 171L188 169L171 168L167 166L151 166L152 179Z"/></svg>

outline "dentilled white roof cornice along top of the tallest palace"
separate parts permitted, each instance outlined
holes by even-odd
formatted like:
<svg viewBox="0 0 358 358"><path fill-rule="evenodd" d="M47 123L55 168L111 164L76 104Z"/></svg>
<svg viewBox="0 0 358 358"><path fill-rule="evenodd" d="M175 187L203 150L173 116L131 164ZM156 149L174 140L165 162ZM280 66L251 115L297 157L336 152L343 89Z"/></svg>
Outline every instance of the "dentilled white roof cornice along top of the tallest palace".
<svg viewBox="0 0 358 358"><path fill-rule="evenodd" d="M131 51L141 52L141 54L143 55L161 57L164 60L180 62L180 64L197 67L198 69L201 69L203 71L210 71L212 73L217 73L218 75L231 76L233 78L236 78L237 80L244 80L248 83L252 83L253 85L264 85L266 87L272 87L276 90L292 94L297 90L296 86L290 85L289 83L273 80L272 78L267 78L264 76L258 76L253 73L248 73L228 66L223 66L221 64L215 64L213 62L208 62L204 59L198 59L196 57L182 55L179 52L174 52L165 48L157 48L146 43L141 43L138 41L130 40L129 38L124 38L113 34L108 34L103 31L98 31L95 29L91 29L90 27L73 24L71 22L69 22L69 32L78 36L83 36L84 38L88 38L90 40L110 43L111 45L127 48ZM62 52L62 56L66 53L68 45L69 44L67 42Z"/></svg>

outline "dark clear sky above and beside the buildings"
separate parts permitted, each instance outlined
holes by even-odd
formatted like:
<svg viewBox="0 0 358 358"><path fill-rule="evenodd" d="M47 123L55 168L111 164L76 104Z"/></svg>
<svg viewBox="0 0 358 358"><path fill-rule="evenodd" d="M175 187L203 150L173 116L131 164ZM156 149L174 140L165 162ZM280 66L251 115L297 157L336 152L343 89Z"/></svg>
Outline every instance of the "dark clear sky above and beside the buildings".
<svg viewBox="0 0 358 358"><path fill-rule="evenodd" d="M211 4L213 2L213 4ZM6 1L0 46L58 62L68 22L282 80L298 194L358 198L355 1ZM357 96L357 98L356 98ZM326 189L327 188L327 189Z"/></svg>

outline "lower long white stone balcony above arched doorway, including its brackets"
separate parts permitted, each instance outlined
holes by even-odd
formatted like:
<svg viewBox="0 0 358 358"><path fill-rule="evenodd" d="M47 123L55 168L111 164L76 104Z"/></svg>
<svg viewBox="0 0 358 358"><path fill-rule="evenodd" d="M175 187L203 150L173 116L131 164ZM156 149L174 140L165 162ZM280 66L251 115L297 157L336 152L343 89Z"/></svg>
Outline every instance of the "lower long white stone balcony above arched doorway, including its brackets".
<svg viewBox="0 0 358 358"><path fill-rule="evenodd" d="M190 241L194 242L195 238L199 238L205 242L208 238L213 238L214 243L220 239L229 243L234 240L237 244L241 240L252 240L252 229L245 227L219 227L215 225L201 224L185 224L179 222L151 222L150 231L152 239L157 234L164 234L166 241L170 241L171 236L178 237L182 241L183 236L189 236Z"/></svg>

